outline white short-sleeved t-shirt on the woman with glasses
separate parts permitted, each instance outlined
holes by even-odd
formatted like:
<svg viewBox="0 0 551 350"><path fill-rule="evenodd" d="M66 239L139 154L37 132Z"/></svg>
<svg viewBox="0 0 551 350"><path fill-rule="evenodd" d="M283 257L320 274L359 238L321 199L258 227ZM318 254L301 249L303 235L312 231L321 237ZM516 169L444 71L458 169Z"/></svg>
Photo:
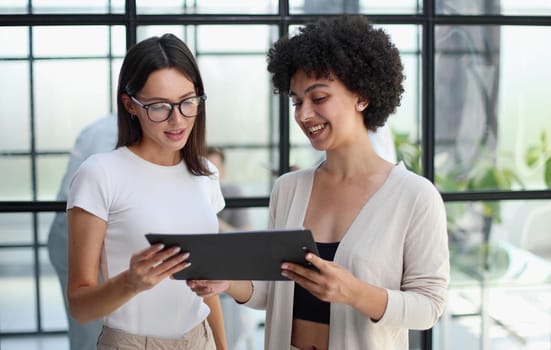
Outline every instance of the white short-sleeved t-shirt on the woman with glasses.
<svg viewBox="0 0 551 350"><path fill-rule="evenodd" d="M183 162L160 166L121 147L92 155L81 165L67 199L67 209L73 207L108 222L100 258L101 276L107 280L127 270L131 255L149 246L146 233L218 232L216 213L224 199L217 172L194 176ZM132 334L177 338L208 313L184 281L167 278L106 316L104 324Z"/></svg>

